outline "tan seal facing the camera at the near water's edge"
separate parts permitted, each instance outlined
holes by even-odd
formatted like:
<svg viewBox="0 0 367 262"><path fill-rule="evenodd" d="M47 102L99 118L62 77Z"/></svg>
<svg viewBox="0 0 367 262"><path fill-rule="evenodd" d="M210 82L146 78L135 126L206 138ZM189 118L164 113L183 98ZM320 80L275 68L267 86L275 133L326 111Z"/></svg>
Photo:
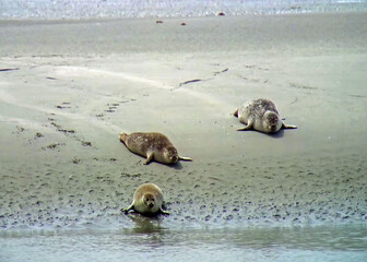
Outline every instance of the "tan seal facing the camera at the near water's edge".
<svg viewBox="0 0 367 262"><path fill-rule="evenodd" d="M169 215L168 212L162 210L163 201L163 192L158 186L155 183L143 183L135 190L131 205L121 211L125 214L134 210L143 215L157 215L159 213Z"/></svg>

